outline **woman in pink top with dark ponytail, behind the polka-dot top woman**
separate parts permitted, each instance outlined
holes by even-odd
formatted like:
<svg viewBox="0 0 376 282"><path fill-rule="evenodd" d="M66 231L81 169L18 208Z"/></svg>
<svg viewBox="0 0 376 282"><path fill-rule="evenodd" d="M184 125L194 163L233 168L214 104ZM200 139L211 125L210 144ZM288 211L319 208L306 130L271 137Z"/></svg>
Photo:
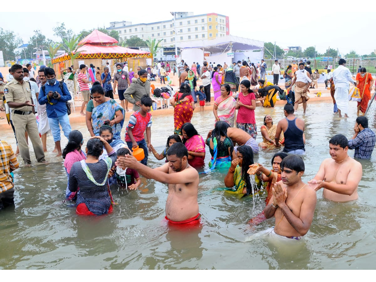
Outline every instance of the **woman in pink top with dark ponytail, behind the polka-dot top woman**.
<svg viewBox="0 0 376 282"><path fill-rule="evenodd" d="M67 179L69 180L69 173L72 165L75 162L79 162L86 159L86 155L81 150L83 144L82 133L78 130L72 130L68 135L68 144L63 150L64 167L67 172ZM67 200L76 200L76 192L71 192L69 190L69 185L67 185L67 190L65 191L65 198Z"/></svg>

